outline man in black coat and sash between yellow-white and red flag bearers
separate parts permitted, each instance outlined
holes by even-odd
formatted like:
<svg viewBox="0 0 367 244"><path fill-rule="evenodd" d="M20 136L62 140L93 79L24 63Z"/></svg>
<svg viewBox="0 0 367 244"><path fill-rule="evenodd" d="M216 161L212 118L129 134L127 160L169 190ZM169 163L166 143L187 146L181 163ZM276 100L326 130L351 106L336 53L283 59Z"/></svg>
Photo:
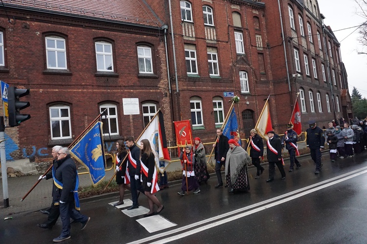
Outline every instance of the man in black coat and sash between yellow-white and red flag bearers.
<svg viewBox="0 0 367 244"><path fill-rule="evenodd" d="M285 171L282 162L282 144L279 138L275 138L273 130L267 132L269 140L266 143L266 155L269 162L269 179L266 182L274 181L275 164L278 167L282 180L285 179Z"/></svg>

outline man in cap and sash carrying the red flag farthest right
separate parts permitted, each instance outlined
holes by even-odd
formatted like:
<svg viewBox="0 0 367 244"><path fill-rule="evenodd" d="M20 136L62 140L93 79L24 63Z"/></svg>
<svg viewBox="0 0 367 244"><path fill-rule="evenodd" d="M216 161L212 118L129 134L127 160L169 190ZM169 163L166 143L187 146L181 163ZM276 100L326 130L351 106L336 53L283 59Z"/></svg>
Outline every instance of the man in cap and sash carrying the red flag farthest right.
<svg viewBox="0 0 367 244"><path fill-rule="evenodd" d="M296 152L298 153L298 146L297 146L297 132L293 130L293 124L287 124L287 131L284 133L282 138L282 145L285 144L285 148L288 150L289 159L291 161L291 165L289 166L289 172L294 171L294 165L296 163L296 169L299 169L301 164L298 162L296 158Z"/></svg>

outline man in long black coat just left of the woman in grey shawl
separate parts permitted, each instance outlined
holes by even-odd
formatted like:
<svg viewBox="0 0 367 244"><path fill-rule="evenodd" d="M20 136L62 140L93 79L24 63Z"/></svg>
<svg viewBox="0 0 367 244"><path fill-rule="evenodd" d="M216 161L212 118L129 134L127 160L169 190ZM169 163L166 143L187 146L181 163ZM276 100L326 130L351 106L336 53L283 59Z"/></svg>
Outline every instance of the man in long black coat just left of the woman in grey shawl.
<svg viewBox="0 0 367 244"><path fill-rule="evenodd" d="M217 129L218 140L213 144L215 157L215 173L217 174L218 184L214 187L218 188L223 185L221 168L226 164L227 152L229 150L228 138L223 135L223 129Z"/></svg>

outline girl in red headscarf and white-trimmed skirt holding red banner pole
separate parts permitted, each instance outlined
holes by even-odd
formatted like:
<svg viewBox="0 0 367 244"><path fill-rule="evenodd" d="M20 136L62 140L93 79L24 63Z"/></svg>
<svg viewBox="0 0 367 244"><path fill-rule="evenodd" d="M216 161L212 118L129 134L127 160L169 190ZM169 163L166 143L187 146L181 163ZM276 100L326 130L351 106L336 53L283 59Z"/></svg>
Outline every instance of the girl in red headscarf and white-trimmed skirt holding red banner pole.
<svg viewBox="0 0 367 244"><path fill-rule="evenodd" d="M194 194L199 193L199 184L195 178L195 157L191 152L191 146L185 146L180 155L181 165L183 169L183 178L181 191L177 192L181 196L185 195L185 191L194 190ZM187 184L186 184L187 181Z"/></svg>

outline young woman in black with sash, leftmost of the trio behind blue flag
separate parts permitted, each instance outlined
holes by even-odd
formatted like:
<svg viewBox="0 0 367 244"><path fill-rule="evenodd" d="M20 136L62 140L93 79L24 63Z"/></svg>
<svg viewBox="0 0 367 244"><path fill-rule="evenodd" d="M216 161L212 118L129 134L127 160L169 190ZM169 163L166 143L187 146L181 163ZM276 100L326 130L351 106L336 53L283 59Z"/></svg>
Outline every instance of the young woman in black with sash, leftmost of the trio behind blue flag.
<svg viewBox="0 0 367 244"><path fill-rule="evenodd" d="M129 179L126 179L126 166L127 160L125 159L123 162L122 160L127 155L126 146L124 143L124 139L118 140L116 142L116 183L118 184L118 190L120 192L120 200L114 204L114 206L118 206L124 204L124 195L125 189L130 190Z"/></svg>

